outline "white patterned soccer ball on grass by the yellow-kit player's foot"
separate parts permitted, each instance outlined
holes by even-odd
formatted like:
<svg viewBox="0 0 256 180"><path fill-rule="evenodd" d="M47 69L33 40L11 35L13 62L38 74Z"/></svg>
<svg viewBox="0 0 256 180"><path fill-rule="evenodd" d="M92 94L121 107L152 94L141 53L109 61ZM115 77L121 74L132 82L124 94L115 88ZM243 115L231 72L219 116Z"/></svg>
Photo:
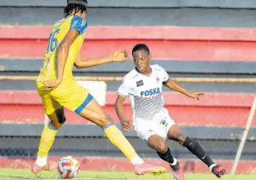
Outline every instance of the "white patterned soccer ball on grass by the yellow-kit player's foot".
<svg viewBox="0 0 256 180"><path fill-rule="evenodd" d="M57 172L61 178L75 178L80 172L80 164L75 157L62 157L58 161Z"/></svg>

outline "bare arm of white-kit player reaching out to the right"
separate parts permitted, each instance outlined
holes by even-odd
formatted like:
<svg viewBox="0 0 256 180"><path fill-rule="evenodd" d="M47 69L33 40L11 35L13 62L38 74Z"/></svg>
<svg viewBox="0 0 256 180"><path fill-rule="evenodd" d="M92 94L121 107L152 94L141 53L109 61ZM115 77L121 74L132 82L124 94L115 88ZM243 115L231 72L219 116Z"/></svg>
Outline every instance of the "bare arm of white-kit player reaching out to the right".
<svg viewBox="0 0 256 180"><path fill-rule="evenodd" d="M169 78L166 82L163 82L163 84L164 86L169 87L169 89L175 90L181 94L185 94L190 98L197 98L199 100L204 98L205 96L205 94L203 94L202 92L190 92L184 89L183 87L179 86L176 82L174 82L171 78Z"/></svg>

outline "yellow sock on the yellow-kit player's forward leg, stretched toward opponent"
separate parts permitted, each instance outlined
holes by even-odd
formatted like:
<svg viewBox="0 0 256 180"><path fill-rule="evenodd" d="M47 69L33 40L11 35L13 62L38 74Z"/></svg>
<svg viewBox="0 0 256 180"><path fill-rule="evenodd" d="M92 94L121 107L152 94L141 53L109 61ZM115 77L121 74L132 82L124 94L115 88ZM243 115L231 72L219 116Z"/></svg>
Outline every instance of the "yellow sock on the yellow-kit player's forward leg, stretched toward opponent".
<svg viewBox="0 0 256 180"><path fill-rule="evenodd" d="M124 153L133 165L144 163L144 161L137 155L130 142L113 123L109 123L109 125L104 128L104 131L109 140Z"/></svg>

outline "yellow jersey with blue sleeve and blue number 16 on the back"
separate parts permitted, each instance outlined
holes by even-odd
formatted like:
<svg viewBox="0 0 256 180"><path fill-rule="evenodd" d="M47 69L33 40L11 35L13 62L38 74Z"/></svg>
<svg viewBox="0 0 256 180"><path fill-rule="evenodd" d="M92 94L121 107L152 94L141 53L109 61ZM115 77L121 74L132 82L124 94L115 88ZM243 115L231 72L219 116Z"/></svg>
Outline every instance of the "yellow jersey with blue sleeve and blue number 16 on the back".
<svg viewBox="0 0 256 180"><path fill-rule="evenodd" d="M58 77L58 45L62 42L66 36L66 33L70 29L79 31L79 36L70 46L70 51L66 59L66 65L63 73L63 80L74 79L72 70L74 67L75 58L83 46L84 31L87 29L87 21L77 15L68 16L65 19L59 20L57 23L54 23L49 34L49 42L45 52L44 64L40 70L36 82L45 82Z"/></svg>

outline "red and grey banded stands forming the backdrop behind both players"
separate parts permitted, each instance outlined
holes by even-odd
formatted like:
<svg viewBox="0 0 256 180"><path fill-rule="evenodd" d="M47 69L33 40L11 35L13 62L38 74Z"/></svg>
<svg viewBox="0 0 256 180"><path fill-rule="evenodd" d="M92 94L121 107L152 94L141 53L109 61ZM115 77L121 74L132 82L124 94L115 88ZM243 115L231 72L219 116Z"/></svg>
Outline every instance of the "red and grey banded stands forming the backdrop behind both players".
<svg viewBox="0 0 256 180"><path fill-rule="evenodd" d="M198 140L211 157L232 168L254 101L256 76L256 1L241 0L93 0L88 1L88 29L82 57L103 57L117 49L147 44L153 60L203 101L164 88L165 107L186 135ZM0 168L29 168L41 131L48 122L36 94L35 79L45 54L51 25L61 19L64 0L0 0ZM133 61L75 69L87 80L104 110L114 110L122 77ZM83 83L83 82L82 82ZM132 111L126 101L126 115ZM72 155L83 170L130 171L132 166L102 130L66 110L49 157ZM146 161L168 167L134 132L130 143ZM237 166L237 174L256 172L256 119ZM186 172L210 173L187 149L168 142ZM92 166L93 163L93 166Z"/></svg>

